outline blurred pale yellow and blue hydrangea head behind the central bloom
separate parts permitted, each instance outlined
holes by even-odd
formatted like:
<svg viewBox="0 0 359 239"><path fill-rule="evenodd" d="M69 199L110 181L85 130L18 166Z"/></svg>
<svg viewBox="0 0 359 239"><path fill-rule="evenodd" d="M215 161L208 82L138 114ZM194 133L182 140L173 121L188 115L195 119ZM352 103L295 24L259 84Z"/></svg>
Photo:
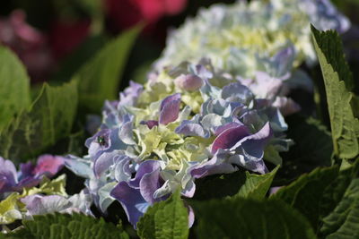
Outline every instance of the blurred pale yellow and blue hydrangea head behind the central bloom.
<svg viewBox="0 0 359 239"><path fill-rule="evenodd" d="M271 73L267 60L291 46L295 51L294 67L304 61L311 65L316 62L311 24L319 30L339 33L350 27L350 21L329 0L215 4L171 32L162 58L155 65L160 69L167 64L208 57L215 67L226 72L253 77L257 71Z"/></svg>

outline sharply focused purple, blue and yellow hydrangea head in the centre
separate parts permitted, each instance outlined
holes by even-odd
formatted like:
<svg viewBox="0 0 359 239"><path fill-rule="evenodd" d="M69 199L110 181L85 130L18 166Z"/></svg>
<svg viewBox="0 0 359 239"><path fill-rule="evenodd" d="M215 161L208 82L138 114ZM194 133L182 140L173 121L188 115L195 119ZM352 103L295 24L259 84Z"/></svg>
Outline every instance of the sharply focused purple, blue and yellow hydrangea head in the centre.
<svg viewBox="0 0 359 239"><path fill-rule="evenodd" d="M276 152L292 141L274 106L285 98L282 81L257 82L216 72L207 60L166 67L144 86L131 82L118 101L107 101L99 131L85 143L88 156L70 156L65 164L87 178L98 208L105 212L117 200L134 226L150 205L176 190L193 197L197 178L240 167L265 174L264 159L280 164Z"/></svg>

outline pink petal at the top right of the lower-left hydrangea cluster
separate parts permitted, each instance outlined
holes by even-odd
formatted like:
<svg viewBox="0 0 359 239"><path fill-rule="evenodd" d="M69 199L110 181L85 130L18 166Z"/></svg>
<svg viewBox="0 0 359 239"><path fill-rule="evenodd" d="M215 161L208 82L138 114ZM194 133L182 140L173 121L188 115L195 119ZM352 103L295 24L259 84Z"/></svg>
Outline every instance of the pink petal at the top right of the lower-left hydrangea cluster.
<svg viewBox="0 0 359 239"><path fill-rule="evenodd" d="M43 155L38 159L38 164L33 170L33 175L47 175L52 177L57 174L58 171L64 166L65 160L62 157Z"/></svg>

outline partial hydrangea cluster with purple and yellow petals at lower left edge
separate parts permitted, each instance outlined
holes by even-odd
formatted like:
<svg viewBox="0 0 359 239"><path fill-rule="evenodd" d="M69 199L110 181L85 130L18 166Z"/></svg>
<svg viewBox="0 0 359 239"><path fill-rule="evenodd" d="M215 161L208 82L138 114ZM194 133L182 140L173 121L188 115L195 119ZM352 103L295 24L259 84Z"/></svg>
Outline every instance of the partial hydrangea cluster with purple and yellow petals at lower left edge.
<svg viewBox="0 0 359 239"><path fill-rule="evenodd" d="M92 201L86 191L69 197L65 191L66 175L49 180L57 175L65 160L43 155L36 165L21 164L17 171L12 161L0 157L0 224L56 211L92 215Z"/></svg>

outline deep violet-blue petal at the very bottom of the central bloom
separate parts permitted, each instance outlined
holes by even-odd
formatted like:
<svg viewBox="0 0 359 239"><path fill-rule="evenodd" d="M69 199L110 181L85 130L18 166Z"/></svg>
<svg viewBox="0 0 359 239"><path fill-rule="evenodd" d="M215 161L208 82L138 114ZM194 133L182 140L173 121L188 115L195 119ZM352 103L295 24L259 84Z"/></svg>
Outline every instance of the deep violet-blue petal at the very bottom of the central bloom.
<svg viewBox="0 0 359 239"><path fill-rule="evenodd" d="M138 219L144 215L150 205L144 200L139 189L130 187L126 182L120 182L109 194L121 203L128 221L136 227Z"/></svg>

